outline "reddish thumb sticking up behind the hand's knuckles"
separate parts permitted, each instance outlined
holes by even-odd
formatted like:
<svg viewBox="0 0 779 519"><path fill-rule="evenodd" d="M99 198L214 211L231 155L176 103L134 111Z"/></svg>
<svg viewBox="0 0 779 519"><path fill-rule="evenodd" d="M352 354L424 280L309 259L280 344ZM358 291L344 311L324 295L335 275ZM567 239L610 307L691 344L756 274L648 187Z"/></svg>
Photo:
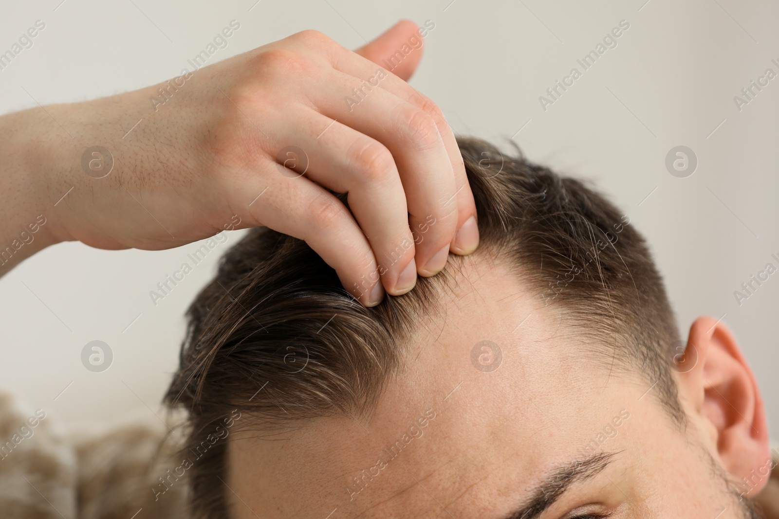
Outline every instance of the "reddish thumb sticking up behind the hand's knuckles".
<svg viewBox="0 0 779 519"><path fill-rule="evenodd" d="M418 29L419 27L416 23L409 19L402 19L381 36L354 52L360 54L363 58L368 58L376 65L381 65L400 79L408 81L417 69L419 60L422 58L422 47L414 48L408 41L409 38L414 37L420 42L423 41L419 37ZM409 54L404 54L400 51L404 44L411 49ZM390 58L393 58L393 56L394 59L391 60Z"/></svg>

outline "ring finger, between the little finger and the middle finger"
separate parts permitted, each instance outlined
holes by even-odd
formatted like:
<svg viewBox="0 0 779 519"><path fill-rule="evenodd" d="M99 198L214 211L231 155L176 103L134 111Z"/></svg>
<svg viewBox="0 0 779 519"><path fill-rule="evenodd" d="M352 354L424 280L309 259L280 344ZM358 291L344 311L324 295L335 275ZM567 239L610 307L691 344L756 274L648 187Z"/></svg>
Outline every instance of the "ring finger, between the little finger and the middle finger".
<svg viewBox="0 0 779 519"><path fill-rule="evenodd" d="M349 209L370 244L387 293L397 296L411 290L417 278L414 236L409 228L407 194L390 150L308 108L287 116L298 121L298 126L279 139L305 152L305 177L348 193ZM367 270L362 274L373 275Z"/></svg>

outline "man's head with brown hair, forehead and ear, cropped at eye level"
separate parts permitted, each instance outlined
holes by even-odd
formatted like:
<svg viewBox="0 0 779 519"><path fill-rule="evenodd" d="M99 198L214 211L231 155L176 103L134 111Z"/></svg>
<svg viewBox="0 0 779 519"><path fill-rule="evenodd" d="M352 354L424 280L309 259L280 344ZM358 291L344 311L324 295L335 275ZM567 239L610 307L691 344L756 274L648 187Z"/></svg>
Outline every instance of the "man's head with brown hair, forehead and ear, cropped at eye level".
<svg viewBox="0 0 779 519"><path fill-rule="evenodd" d="M267 229L225 255L167 395L191 412L195 511L745 517L767 424L727 328L702 317L679 340L643 239L605 198L460 149L480 247L404 296L361 307Z"/></svg>

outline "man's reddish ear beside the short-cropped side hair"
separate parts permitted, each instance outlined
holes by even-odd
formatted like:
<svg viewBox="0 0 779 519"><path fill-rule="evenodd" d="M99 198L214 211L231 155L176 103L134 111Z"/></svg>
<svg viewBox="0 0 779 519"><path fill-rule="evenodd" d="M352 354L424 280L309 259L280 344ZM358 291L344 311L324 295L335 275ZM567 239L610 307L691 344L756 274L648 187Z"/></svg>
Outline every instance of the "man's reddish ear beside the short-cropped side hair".
<svg viewBox="0 0 779 519"><path fill-rule="evenodd" d="M679 389L709 426L725 468L742 495L754 496L774 464L763 398L735 337L720 321L699 317L677 366L685 366Z"/></svg>

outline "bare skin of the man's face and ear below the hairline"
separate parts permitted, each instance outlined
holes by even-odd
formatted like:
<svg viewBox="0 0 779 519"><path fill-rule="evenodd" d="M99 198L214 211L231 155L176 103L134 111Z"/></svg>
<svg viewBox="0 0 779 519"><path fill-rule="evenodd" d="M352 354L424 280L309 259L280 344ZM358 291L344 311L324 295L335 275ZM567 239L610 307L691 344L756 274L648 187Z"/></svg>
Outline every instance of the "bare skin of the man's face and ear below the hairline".
<svg viewBox="0 0 779 519"><path fill-rule="evenodd" d="M446 317L419 327L372 416L234 437L233 517L749 517L739 494L767 482L767 423L724 324L700 317L690 328L697 359L675 373L689 418L680 432L651 381L594 365L564 314L538 307L481 250L466 265L460 289L443 297ZM485 339L502 350L491 372L471 362ZM534 491L555 468L552 481L590 477L559 496L555 485ZM745 486L753 470L763 475ZM528 510L539 495L556 497Z"/></svg>

